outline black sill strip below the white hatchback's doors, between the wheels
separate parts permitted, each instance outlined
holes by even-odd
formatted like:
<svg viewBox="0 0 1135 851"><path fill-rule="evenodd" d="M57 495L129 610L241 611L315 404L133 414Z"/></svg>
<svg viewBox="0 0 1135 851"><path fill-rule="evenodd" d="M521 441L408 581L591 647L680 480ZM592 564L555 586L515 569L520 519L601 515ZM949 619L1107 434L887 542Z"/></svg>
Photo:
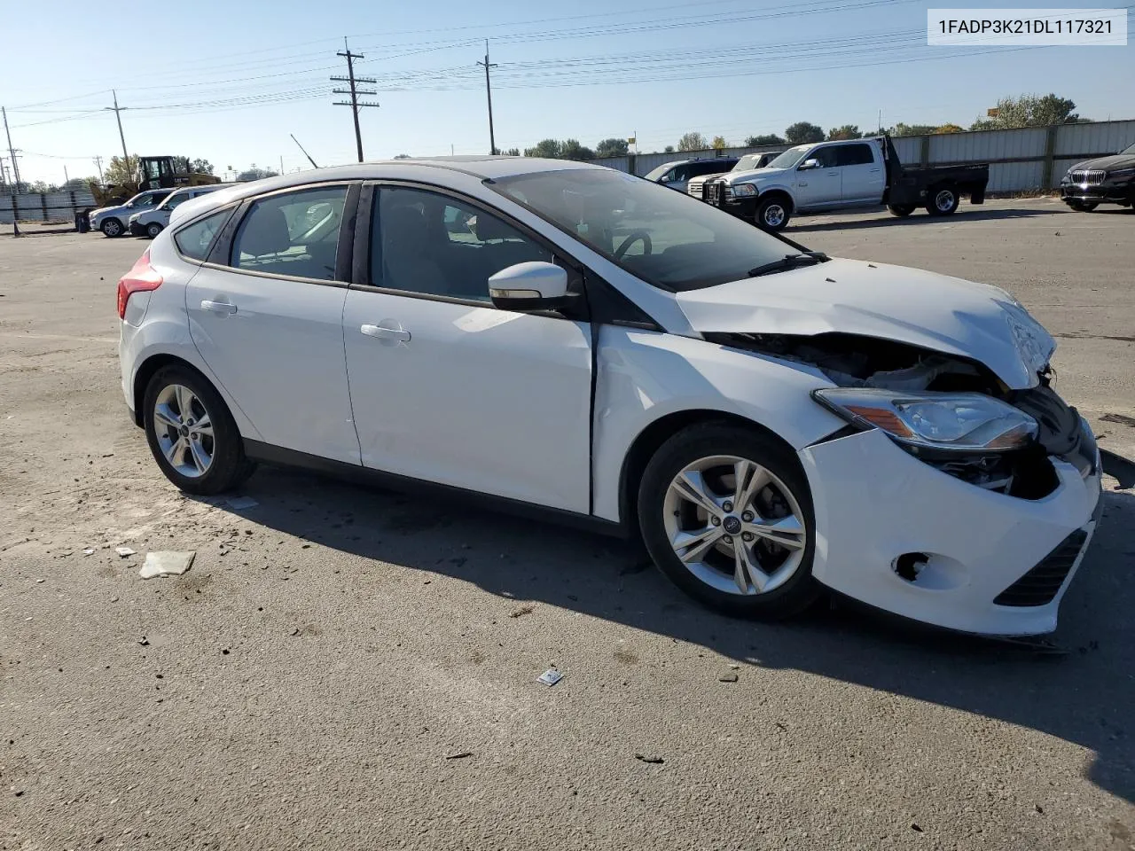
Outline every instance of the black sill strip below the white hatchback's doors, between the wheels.
<svg viewBox="0 0 1135 851"><path fill-rule="evenodd" d="M337 479L347 479L363 485L386 487L407 494L428 494L431 496L443 496L461 499L465 503L480 505L485 508L498 511L504 514L513 514L532 520L547 521L560 525L568 525L575 529L606 534L614 538L628 538L629 532L624 524L616 523L590 514L579 514L562 508L548 508L543 505L524 503L508 497L481 494L466 488L456 488L451 485L439 485L438 482L414 479L409 475L388 473L382 470L373 470L356 464L347 464L342 461L309 455L308 453L285 449L259 440L244 440L244 454L252 461L261 461L266 464L279 466L300 467L313 472L323 473Z"/></svg>

